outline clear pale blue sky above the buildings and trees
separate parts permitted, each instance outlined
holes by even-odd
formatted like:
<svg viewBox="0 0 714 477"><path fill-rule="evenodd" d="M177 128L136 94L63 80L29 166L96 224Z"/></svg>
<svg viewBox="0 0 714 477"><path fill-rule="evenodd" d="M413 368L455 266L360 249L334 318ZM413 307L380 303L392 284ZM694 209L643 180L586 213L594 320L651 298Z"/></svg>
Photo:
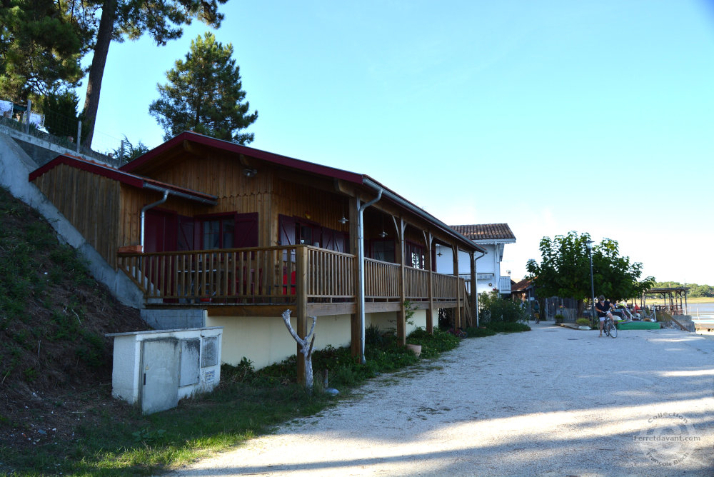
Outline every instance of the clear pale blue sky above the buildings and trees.
<svg viewBox="0 0 714 477"><path fill-rule="evenodd" d="M447 224L568 231L714 285L714 7L696 0L229 0L251 146L368 174ZM156 84L206 26L114 43L95 149L161 144ZM79 91L84 98L84 91Z"/></svg>

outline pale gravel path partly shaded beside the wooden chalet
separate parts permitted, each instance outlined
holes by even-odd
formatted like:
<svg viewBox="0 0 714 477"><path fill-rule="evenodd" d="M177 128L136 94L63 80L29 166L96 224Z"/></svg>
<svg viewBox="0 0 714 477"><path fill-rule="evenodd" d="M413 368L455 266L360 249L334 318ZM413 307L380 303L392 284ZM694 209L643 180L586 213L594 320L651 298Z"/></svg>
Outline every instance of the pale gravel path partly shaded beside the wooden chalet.
<svg viewBox="0 0 714 477"><path fill-rule="evenodd" d="M714 475L714 339L540 323L466 339L172 475L683 474Z"/></svg>

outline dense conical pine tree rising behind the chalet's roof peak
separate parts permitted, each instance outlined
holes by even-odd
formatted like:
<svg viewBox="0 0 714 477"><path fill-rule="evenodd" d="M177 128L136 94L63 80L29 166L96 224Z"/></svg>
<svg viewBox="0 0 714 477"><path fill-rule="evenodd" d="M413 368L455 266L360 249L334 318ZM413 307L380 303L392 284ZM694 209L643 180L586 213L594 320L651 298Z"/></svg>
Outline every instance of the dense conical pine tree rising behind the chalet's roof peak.
<svg viewBox="0 0 714 477"><path fill-rule="evenodd" d="M241 133L258 119L241 84L240 68L233 46L223 46L206 32L191 41L186 60L176 60L166 71L165 85L157 85L160 99L149 106L149 113L164 128L164 139L183 131L194 131L217 139L248 144L253 133Z"/></svg>

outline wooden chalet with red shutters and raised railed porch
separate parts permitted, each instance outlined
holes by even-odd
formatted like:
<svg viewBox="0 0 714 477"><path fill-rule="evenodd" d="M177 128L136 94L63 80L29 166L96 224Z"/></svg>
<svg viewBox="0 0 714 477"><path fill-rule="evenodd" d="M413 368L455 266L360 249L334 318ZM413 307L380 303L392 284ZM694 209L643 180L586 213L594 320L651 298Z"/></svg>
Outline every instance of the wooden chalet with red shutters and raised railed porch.
<svg viewBox="0 0 714 477"><path fill-rule="evenodd" d="M364 174L185 132L120 169L59 156L29 179L131 277L144 316L224 326L228 363L293 354L286 308L302 336L318 317L316 347L351 343L355 355L370 323L405 341L406 301L428 331L439 308L455 308L456 326L471 320L456 257L483 248ZM435 269L436 244L453 251L449 274Z"/></svg>

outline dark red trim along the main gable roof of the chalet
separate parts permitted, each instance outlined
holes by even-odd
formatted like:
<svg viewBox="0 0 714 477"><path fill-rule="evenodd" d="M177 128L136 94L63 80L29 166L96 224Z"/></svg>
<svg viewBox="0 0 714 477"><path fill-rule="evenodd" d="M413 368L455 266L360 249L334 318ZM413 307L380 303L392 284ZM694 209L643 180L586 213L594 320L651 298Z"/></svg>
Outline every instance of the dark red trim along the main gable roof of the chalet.
<svg viewBox="0 0 714 477"><path fill-rule="evenodd" d="M301 159L293 159L287 156L281 156L280 154L273 154L267 151L261 151L260 149L253 149L248 146L241 146L240 144L235 144L228 141L223 141L221 139L215 139L208 136L203 136L201 134L196 134L193 132L185 131L178 136L166 141L161 146L157 146L151 151L147 152L143 156L140 156L134 161L124 164L119 168L121 171L131 172L134 169L138 169L144 164L150 163L156 157L161 156L166 151L181 146L183 141L191 141L196 144L202 144L203 146L210 146L216 149L221 149L223 151L232 152L235 154L244 154L246 156L255 157L256 159L262 159L263 161L268 161L273 164L279 164L281 166L288 166L295 169L301 169L302 171L312 172L314 174L321 174L323 176L330 176L334 179L342 179L348 182L354 182L356 184L362 184L362 174L356 174L350 171L343 171L342 169L335 169L333 167L321 166L320 164L314 164L308 161L302 161Z"/></svg>

